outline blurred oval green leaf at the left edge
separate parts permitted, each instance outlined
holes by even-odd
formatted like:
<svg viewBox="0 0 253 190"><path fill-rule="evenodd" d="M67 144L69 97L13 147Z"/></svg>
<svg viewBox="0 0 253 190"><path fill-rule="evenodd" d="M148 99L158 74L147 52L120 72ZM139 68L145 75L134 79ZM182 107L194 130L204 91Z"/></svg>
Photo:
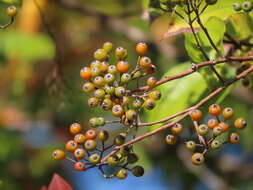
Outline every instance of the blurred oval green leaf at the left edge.
<svg viewBox="0 0 253 190"><path fill-rule="evenodd" d="M52 40L41 34L28 35L19 31L1 31L0 44L0 51L6 57L16 55L24 61L52 59L55 53Z"/></svg>

